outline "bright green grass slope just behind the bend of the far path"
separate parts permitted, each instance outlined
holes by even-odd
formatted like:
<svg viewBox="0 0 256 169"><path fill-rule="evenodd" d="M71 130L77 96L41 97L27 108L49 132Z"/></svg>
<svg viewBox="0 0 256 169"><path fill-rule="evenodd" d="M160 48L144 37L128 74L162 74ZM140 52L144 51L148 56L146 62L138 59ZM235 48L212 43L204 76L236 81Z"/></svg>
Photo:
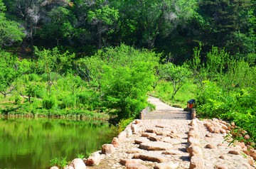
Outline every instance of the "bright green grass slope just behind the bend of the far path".
<svg viewBox="0 0 256 169"><path fill-rule="evenodd" d="M157 84L156 88L149 92L154 97L158 97L166 104L171 106L181 106L185 108L187 105L188 100L195 99L197 86L192 82L187 82L186 84L178 90L174 99L171 99L171 94L174 91L174 87L171 86L171 82L161 81Z"/></svg>

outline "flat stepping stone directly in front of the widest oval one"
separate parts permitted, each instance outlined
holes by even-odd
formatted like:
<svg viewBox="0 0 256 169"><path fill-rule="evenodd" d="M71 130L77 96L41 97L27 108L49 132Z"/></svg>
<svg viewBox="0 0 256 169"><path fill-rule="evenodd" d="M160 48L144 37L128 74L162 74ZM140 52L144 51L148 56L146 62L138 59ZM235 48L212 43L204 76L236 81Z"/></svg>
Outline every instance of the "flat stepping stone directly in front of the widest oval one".
<svg viewBox="0 0 256 169"><path fill-rule="evenodd" d="M168 158L161 156L159 153L135 154L134 158L139 158L141 160L149 160L157 163L165 163L168 161Z"/></svg>

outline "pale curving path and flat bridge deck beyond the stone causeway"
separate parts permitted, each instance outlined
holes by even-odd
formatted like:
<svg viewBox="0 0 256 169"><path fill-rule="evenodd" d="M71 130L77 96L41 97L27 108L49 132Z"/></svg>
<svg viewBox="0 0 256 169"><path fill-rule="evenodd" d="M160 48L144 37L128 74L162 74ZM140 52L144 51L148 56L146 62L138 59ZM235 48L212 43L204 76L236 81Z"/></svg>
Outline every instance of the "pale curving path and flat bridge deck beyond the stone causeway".
<svg viewBox="0 0 256 169"><path fill-rule="evenodd" d="M191 119L190 111L171 107L155 97L149 97L148 101L156 105L156 110L144 114L144 119Z"/></svg>

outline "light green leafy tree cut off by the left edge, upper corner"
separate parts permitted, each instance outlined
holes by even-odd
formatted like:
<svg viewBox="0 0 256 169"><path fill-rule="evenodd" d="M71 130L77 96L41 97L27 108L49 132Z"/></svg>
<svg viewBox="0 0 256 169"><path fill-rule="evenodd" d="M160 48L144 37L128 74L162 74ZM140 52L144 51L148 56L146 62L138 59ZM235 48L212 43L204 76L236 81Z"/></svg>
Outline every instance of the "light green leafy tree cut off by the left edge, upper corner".
<svg viewBox="0 0 256 169"><path fill-rule="evenodd" d="M18 23L6 19L5 11L6 6L0 0L0 46L13 45L25 36Z"/></svg>

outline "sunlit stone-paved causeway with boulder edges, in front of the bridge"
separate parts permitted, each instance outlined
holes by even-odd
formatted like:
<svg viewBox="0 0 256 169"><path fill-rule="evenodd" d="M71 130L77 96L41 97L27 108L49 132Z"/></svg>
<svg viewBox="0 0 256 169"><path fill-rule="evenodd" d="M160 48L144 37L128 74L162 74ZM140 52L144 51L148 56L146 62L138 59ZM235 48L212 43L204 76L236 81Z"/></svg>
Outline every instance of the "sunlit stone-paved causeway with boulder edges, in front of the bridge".
<svg viewBox="0 0 256 169"><path fill-rule="evenodd" d="M159 107L169 109L164 104L156 105ZM83 159L86 167L72 162L65 169L256 168L256 151L251 150L255 153L252 158L246 155L244 143L228 146L224 140L232 126L219 119L137 119L112 144L102 145L102 151Z"/></svg>

